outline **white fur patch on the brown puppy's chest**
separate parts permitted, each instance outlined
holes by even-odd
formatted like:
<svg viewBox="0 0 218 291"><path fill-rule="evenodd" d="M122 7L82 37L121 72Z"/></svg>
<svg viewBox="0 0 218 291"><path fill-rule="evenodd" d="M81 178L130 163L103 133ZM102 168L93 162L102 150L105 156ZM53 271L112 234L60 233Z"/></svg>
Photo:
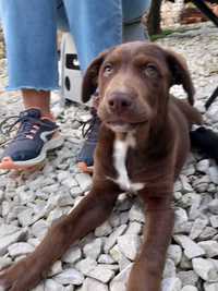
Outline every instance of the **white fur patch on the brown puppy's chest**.
<svg viewBox="0 0 218 291"><path fill-rule="evenodd" d="M132 183L126 169L126 155L129 147L135 147L133 133L128 133L125 140L114 140L113 165L118 172L118 178L113 182L118 183L123 191L137 192L144 187L144 183Z"/></svg>

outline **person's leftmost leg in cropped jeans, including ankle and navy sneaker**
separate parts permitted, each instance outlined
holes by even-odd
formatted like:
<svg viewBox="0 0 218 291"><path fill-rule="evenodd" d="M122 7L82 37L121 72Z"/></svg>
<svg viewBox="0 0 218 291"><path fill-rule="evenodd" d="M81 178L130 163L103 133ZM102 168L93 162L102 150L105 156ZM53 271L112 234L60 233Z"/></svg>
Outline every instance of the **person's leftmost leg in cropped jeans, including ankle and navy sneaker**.
<svg viewBox="0 0 218 291"><path fill-rule="evenodd" d="M0 168L34 166L58 146L52 138L50 90L58 88L57 0L1 0L10 90L22 90L25 111ZM46 138L40 138L43 132ZM49 142L49 143L47 143Z"/></svg>

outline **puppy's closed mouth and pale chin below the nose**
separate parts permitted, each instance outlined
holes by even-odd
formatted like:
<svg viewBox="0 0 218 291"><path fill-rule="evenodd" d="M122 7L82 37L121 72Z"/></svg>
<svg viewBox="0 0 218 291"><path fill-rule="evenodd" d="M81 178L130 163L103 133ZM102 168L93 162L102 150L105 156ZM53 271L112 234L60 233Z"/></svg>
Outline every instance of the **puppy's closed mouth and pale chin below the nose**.
<svg viewBox="0 0 218 291"><path fill-rule="evenodd" d="M105 121L104 122L111 131L113 132L130 132L135 130L137 126L147 123L146 121L141 122L126 122L123 120L117 120L117 121Z"/></svg>

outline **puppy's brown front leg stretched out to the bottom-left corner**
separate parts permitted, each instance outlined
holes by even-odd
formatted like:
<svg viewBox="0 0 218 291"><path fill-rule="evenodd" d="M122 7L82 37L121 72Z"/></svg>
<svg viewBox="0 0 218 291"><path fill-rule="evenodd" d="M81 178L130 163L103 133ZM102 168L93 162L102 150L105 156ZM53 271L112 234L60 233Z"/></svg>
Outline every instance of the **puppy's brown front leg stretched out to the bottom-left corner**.
<svg viewBox="0 0 218 291"><path fill-rule="evenodd" d="M35 287L73 242L108 218L117 196L118 189L109 182L94 186L71 214L51 226L34 253L0 272L0 286L10 291L27 291Z"/></svg>

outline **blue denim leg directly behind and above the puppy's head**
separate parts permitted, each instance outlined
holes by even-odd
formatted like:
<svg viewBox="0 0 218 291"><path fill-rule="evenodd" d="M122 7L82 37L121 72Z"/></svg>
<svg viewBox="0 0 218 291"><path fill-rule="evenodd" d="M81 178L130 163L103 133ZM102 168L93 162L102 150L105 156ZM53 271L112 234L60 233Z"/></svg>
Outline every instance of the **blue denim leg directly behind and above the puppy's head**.
<svg viewBox="0 0 218 291"><path fill-rule="evenodd" d="M63 0L82 70L97 54L122 43L121 0Z"/></svg>

